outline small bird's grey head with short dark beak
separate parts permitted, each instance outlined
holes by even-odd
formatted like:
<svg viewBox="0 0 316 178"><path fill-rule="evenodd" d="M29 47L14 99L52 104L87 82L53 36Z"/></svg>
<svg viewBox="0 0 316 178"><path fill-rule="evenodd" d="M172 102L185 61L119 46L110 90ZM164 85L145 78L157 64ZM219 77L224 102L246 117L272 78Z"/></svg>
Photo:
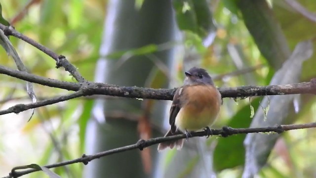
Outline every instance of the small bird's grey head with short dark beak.
<svg viewBox="0 0 316 178"><path fill-rule="evenodd" d="M212 78L208 75L205 69L193 67L185 72L185 74L186 78L184 80L184 85L214 85Z"/></svg>

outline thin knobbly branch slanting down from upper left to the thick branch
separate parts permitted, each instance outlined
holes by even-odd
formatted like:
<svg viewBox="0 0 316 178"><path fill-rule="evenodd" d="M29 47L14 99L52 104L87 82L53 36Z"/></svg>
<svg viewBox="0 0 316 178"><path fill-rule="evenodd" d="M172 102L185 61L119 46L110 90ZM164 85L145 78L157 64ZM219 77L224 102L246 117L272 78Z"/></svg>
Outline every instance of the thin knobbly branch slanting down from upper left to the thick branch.
<svg viewBox="0 0 316 178"><path fill-rule="evenodd" d="M80 73L77 71L76 67L73 66L65 56L58 55L52 50L48 49L47 47L40 45L38 42L30 39L29 37L17 32L13 27L5 26L0 24L0 29L3 30L5 35L7 36L14 36L18 39L21 39L25 41L26 43L33 45L34 47L40 49L45 54L49 55L51 58L53 58L56 61L56 68L64 67L66 71L68 71L78 82L82 83L85 82L85 79L80 75Z"/></svg>

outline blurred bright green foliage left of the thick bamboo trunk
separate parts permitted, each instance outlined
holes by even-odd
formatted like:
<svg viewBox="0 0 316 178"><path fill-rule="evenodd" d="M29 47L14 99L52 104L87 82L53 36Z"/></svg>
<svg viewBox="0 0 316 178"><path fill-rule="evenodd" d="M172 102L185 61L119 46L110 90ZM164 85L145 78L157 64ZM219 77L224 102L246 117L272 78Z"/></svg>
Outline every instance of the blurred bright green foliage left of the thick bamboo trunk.
<svg viewBox="0 0 316 178"><path fill-rule="evenodd" d="M10 22L26 10L27 13L13 24L15 29L57 54L67 56L67 59L87 80L93 81L94 73L91 71L94 71L95 62L99 57L107 2L103 0L37 0L37 3L33 3L26 9L27 4L32 1L36 0L1 1L3 17ZM12 37L10 41L33 74L75 82L69 73L63 68L56 69L56 62L35 47ZM1 65L16 69L14 61L7 57L3 49L0 49L0 53ZM24 90L25 82L1 75L0 83L0 100L8 99L7 102L0 103L1 109L16 103L31 102ZM40 85L34 85L34 88L41 99L69 93L66 90ZM11 141L3 141L0 144L0 163L5 165L0 168L0 176L7 175L15 166L30 163L46 165L82 155L85 127L91 107L92 100L85 99L47 106L37 109L34 120L32 119L29 123L26 119L30 117L28 111L19 115L0 116L1 130L13 128L3 131L0 135L1 140L11 138ZM43 119L40 119L40 115ZM10 118L14 121L10 121ZM11 127L7 127L8 125ZM49 135L52 135L57 143L52 143ZM66 169L59 168L53 171L62 177L78 178L82 175L82 167L81 164L74 164ZM37 178L43 175L43 173L36 173L26 177Z"/></svg>

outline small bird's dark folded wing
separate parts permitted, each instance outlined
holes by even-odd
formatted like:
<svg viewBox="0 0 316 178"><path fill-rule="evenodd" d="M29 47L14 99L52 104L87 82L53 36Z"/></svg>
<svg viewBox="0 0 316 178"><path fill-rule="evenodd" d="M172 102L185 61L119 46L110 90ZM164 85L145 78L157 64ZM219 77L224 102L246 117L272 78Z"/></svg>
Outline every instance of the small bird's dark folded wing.
<svg viewBox="0 0 316 178"><path fill-rule="evenodd" d="M180 100L180 96L183 93L184 88L178 88L174 93L172 105L169 113L169 124L171 126L171 133L176 133L176 126L174 125L178 112L180 111L182 104Z"/></svg>

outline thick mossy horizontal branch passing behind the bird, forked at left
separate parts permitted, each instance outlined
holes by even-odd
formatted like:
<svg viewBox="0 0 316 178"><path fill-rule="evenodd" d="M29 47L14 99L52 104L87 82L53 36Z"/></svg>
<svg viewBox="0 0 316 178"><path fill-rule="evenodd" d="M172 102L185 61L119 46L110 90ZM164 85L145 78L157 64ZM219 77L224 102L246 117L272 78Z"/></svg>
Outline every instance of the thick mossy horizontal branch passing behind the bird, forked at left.
<svg viewBox="0 0 316 178"><path fill-rule="evenodd" d="M103 83L73 83L62 82L55 79L48 79L37 75L29 74L27 72L12 70L10 68L0 66L0 73L6 74L18 79L37 83L44 86L68 89L78 91L74 95L66 95L65 98L59 96L57 98L46 99L27 105L18 104L9 109L0 111L1 114L7 113L19 113L31 108L37 108L40 106L53 104L59 101L65 101L68 99L88 96L94 94L120 96L126 98L143 98L143 99L158 99L158 100L172 100L175 89L151 89L141 87L119 87L115 85L108 85ZM287 85L272 85L266 87L256 86L244 86L235 88L219 88L222 97L250 97L250 96L265 96L265 95L284 95L284 94L316 94L316 79L312 79L310 82L302 82L297 84ZM21 107L23 106L23 107Z"/></svg>

